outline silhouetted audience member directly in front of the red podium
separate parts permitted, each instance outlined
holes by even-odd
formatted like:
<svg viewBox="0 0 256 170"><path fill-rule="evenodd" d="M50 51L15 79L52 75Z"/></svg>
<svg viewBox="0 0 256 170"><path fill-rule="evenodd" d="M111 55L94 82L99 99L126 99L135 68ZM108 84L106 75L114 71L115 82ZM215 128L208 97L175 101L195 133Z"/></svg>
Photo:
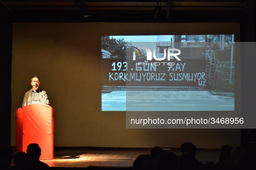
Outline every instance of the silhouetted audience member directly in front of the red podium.
<svg viewBox="0 0 256 170"><path fill-rule="evenodd" d="M39 161L41 156L41 148L38 144L32 143L28 145L27 155L29 157L28 170L45 170L49 169L49 165Z"/></svg>

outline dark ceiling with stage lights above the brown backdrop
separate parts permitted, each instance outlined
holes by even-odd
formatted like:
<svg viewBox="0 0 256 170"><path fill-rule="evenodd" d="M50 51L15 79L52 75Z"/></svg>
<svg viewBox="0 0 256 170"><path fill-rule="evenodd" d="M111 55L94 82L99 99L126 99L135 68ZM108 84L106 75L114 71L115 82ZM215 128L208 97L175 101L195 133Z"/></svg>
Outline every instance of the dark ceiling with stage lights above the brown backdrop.
<svg viewBox="0 0 256 170"><path fill-rule="evenodd" d="M13 22L239 22L248 0L0 0ZM158 14L156 15L156 9ZM85 16L85 17L84 17Z"/></svg>

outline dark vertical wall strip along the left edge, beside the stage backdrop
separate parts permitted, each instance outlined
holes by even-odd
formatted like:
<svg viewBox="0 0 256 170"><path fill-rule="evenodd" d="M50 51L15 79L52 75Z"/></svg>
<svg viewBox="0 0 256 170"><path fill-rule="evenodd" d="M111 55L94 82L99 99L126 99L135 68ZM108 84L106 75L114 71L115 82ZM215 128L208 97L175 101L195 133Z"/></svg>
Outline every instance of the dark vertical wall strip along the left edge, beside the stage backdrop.
<svg viewBox="0 0 256 170"><path fill-rule="evenodd" d="M10 145L11 131L12 22L0 3L0 145Z"/></svg>

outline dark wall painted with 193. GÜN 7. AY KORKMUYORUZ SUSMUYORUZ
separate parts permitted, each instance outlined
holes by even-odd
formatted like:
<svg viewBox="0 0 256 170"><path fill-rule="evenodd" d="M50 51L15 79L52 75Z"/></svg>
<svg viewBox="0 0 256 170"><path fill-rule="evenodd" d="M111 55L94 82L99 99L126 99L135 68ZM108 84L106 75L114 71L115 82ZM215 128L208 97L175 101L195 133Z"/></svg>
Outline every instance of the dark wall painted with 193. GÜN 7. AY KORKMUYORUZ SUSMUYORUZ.
<svg viewBox="0 0 256 170"><path fill-rule="evenodd" d="M136 86L205 88L207 86L206 60L161 61L103 59L103 87Z"/></svg>

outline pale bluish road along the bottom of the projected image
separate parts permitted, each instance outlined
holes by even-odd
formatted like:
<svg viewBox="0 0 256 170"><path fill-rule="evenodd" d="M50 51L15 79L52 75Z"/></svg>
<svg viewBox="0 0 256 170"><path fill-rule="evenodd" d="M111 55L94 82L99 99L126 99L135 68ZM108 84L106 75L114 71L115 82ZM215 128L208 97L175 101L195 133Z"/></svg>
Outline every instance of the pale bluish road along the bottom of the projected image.
<svg viewBox="0 0 256 170"><path fill-rule="evenodd" d="M112 91L102 93L102 111L227 111L233 93L209 91Z"/></svg>

